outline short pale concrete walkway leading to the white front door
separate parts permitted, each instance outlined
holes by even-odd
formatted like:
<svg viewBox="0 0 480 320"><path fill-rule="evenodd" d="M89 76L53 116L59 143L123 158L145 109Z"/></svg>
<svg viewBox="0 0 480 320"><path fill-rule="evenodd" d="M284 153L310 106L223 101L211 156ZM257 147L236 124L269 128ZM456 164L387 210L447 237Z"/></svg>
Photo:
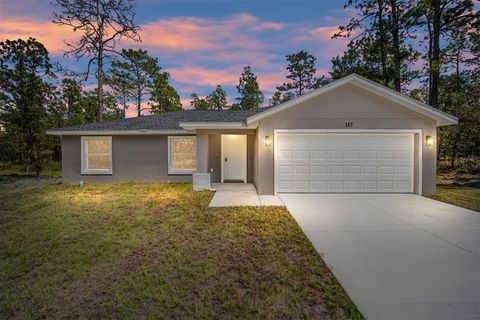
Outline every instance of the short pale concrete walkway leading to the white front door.
<svg viewBox="0 0 480 320"><path fill-rule="evenodd" d="M209 207L285 206L277 196L258 195L250 183L214 183L215 194Z"/></svg>

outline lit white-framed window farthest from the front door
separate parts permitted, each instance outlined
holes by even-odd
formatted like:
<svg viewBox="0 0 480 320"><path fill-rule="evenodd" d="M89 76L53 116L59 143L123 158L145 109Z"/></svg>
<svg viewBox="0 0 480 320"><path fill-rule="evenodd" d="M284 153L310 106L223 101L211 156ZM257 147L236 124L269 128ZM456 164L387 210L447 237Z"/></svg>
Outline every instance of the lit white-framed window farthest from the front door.
<svg viewBox="0 0 480 320"><path fill-rule="evenodd" d="M82 137L82 174L112 173L112 137Z"/></svg>

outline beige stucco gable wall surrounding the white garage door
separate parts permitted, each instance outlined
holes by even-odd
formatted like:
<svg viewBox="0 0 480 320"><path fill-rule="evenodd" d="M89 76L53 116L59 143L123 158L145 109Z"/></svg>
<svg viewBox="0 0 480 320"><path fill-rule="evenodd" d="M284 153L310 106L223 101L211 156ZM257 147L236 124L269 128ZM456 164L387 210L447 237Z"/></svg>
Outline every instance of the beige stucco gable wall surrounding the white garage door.
<svg viewBox="0 0 480 320"><path fill-rule="evenodd" d="M353 85L345 85L259 121L254 170L259 194L274 192L274 129L347 129L347 122L353 123L348 129L421 129L422 194L435 193L436 148L424 143L426 135L436 141L435 121ZM265 146L265 136L272 139L270 147ZM416 166L417 175L418 170Z"/></svg>

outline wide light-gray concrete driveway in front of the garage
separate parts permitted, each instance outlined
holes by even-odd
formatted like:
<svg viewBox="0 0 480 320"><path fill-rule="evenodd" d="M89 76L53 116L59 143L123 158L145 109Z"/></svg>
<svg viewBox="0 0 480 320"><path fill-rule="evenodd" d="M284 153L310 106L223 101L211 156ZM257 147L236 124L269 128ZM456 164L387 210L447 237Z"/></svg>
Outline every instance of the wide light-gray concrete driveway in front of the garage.
<svg viewBox="0 0 480 320"><path fill-rule="evenodd" d="M406 194L283 194L368 319L480 319L480 213Z"/></svg>

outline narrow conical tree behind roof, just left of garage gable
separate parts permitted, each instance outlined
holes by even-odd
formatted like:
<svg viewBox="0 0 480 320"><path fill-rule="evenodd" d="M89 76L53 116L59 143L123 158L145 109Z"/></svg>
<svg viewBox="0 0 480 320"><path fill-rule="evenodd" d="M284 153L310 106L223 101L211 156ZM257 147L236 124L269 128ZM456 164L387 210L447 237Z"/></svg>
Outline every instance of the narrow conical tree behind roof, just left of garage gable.
<svg viewBox="0 0 480 320"><path fill-rule="evenodd" d="M263 103L263 93L260 91L257 76L250 66L243 68L242 75L238 80L237 90L240 94L237 101L241 109L258 109Z"/></svg>

